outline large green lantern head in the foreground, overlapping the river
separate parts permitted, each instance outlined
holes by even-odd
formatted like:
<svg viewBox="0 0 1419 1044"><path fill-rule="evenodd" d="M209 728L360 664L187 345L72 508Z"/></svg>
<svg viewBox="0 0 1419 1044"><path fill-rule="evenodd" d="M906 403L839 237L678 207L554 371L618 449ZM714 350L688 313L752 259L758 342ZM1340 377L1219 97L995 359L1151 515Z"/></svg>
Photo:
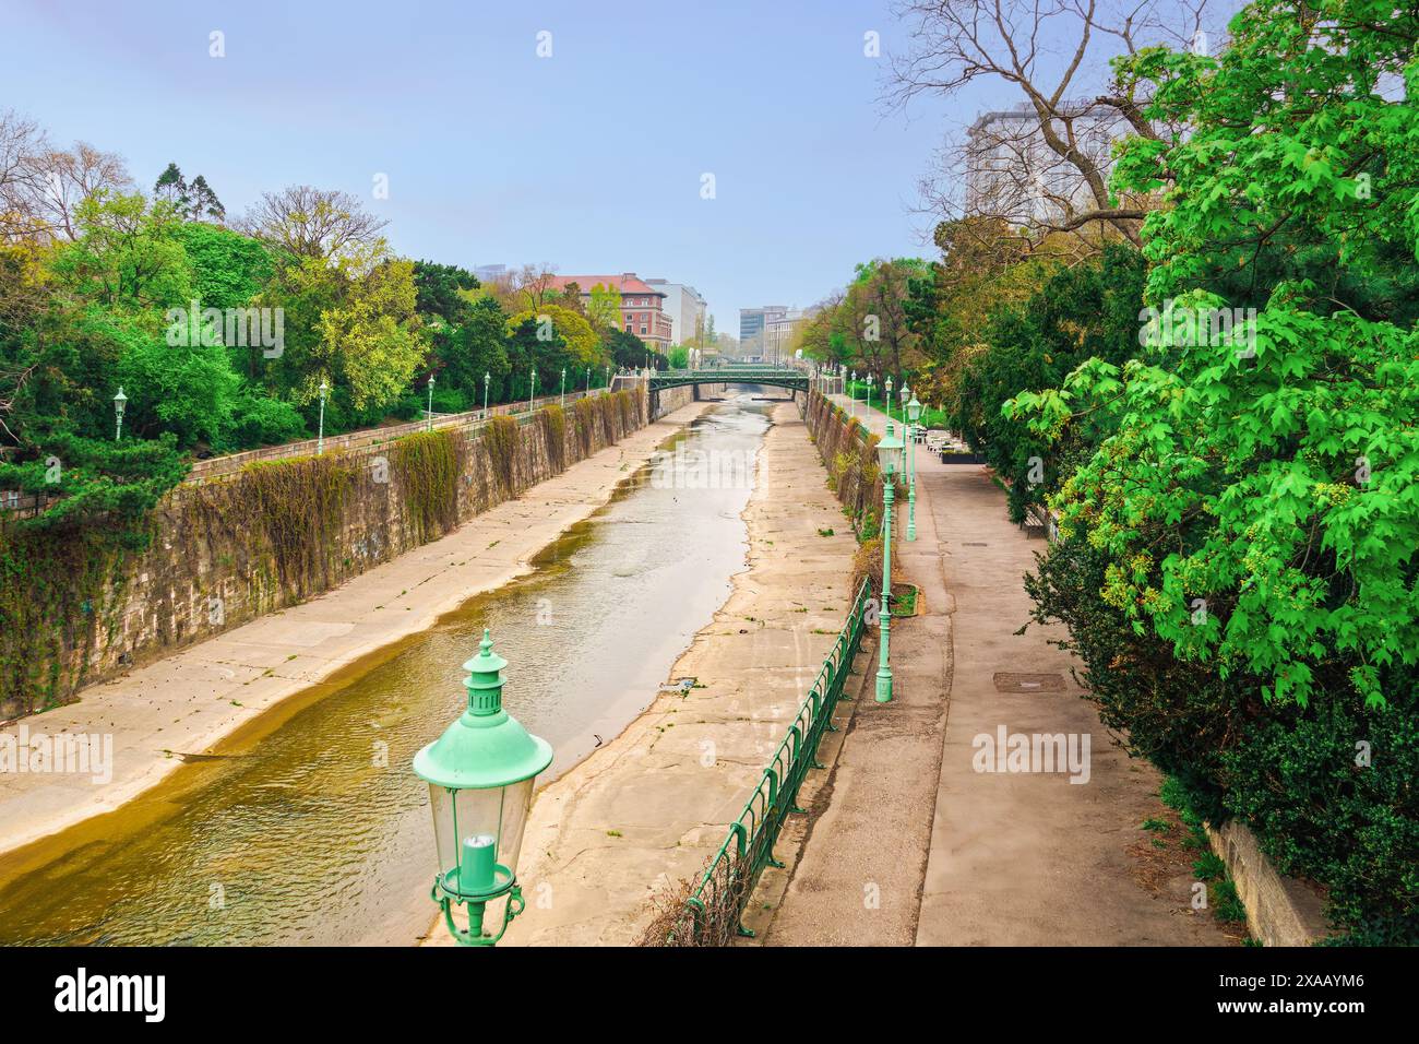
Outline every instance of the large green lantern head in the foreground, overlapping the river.
<svg viewBox="0 0 1419 1044"><path fill-rule="evenodd" d="M444 734L414 754L414 774L429 784L434 814L438 875L433 899L448 933L463 946L492 946L522 912L518 851L532 807L532 781L552 764L552 747L528 733L502 709L502 668L482 632L468 672L468 709ZM484 930L484 913L507 896L502 928ZM453 908L465 906L468 928L454 923Z"/></svg>

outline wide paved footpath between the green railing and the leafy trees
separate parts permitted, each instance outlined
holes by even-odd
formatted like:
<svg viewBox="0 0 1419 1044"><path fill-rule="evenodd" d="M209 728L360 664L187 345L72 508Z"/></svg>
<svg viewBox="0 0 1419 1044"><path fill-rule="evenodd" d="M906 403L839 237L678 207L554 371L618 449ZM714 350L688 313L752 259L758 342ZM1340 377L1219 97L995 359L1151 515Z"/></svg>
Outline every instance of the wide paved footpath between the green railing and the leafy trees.
<svg viewBox="0 0 1419 1044"><path fill-rule="evenodd" d="M884 418L867 423L881 433ZM894 527L905 514L898 500ZM1159 776L1114 746L1080 699L1074 660L1047 643L1063 629L1015 635L1030 609L1022 577L1043 547L1009 523L979 464L917 447L917 541L897 548L921 615L893 621L895 699L858 702L766 943L1227 942L1191 909L1185 859L1161 872L1142 864L1151 835L1139 824L1161 814ZM1087 783L1070 781L1067 761L976 771L976 737L1002 729L1064 734L1080 754L1087 736ZM1083 766L1073 777L1086 778Z"/></svg>

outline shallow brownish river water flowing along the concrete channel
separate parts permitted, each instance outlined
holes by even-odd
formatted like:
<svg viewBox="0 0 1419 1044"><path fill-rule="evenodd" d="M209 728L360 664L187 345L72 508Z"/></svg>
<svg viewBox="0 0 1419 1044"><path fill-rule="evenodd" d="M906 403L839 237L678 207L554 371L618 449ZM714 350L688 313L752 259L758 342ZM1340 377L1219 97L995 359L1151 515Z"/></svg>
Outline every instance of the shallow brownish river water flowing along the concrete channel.
<svg viewBox="0 0 1419 1044"><path fill-rule="evenodd" d="M714 480L629 474L529 577L121 810L0 858L0 943L416 942L434 913L433 827L409 764L464 706L458 665L482 628L509 660L504 705L556 749L552 776L565 771L651 702L728 597L766 428L748 396L714 408L675 439L691 459L714 452Z"/></svg>

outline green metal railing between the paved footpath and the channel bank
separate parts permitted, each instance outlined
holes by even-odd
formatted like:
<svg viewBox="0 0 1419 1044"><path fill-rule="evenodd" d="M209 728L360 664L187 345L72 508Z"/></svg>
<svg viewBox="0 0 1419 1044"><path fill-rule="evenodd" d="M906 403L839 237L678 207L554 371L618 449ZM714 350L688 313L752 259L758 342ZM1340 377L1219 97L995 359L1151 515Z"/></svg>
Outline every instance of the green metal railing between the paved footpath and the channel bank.
<svg viewBox="0 0 1419 1044"><path fill-rule="evenodd" d="M735 936L753 935L744 928L744 909L765 868L783 865L773 858L773 842L789 814L805 811L797 805L805 777L810 768L826 767L817 760L817 747L824 733L837 732L833 712L843 699L843 686L863 643L870 599L871 588L863 581L837 643L823 660L813 687L763 768L759 785L739 818L729 824L724 844L661 945L727 946Z"/></svg>

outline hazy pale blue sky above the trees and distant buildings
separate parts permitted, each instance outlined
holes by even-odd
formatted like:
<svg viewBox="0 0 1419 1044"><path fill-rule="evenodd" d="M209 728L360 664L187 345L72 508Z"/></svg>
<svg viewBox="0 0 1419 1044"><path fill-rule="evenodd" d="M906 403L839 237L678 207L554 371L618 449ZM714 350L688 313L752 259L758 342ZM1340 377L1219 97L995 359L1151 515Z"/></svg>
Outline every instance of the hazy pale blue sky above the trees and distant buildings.
<svg viewBox="0 0 1419 1044"><path fill-rule="evenodd" d="M688 283L731 334L739 308L929 253L917 180L989 107L883 107L885 0L0 0L0 107L121 153L145 190L169 161L230 214L343 189L399 254Z"/></svg>

